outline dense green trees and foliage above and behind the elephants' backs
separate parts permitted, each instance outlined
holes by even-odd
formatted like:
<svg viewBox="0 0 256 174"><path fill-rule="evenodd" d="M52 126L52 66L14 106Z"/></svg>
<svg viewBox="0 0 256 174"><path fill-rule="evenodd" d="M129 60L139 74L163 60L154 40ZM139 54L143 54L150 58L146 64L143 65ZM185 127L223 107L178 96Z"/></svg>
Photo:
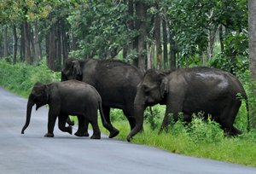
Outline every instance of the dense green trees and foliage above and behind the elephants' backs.
<svg viewBox="0 0 256 174"><path fill-rule="evenodd" d="M0 11L0 56L20 49L20 61L32 63L47 55L52 70L67 55L120 57L141 68L228 62L224 68L234 73L247 61L247 0L4 0ZM212 61L215 44L221 49Z"/></svg>

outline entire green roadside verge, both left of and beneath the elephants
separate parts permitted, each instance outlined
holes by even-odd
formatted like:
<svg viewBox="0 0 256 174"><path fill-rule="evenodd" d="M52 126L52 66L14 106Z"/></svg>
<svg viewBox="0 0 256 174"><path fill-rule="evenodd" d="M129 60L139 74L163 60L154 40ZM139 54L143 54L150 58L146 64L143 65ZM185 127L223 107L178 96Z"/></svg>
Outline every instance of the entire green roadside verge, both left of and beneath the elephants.
<svg viewBox="0 0 256 174"><path fill-rule="evenodd" d="M39 66L25 64L10 65L0 61L0 85L20 96L28 96L32 85L37 81L49 83L58 81L59 73L53 73L42 62ZM172 123L168 132L158 135L165 107L154 107L154 118L145 112L144 131L134 136L131 143L146 144L166 151L208 159L218 159L241 165L256 166L256 131L244 133L233 138L225 137L223 131L212 121L207 123L201 119L193 119L192 124ZM236 126L245 132L246 110L242 106L236 119ZM119 129L116 138L124 140L130 131L128 121L119 109L112 110L112 123ZM108 131L102 128L102 132Z"/></svg>

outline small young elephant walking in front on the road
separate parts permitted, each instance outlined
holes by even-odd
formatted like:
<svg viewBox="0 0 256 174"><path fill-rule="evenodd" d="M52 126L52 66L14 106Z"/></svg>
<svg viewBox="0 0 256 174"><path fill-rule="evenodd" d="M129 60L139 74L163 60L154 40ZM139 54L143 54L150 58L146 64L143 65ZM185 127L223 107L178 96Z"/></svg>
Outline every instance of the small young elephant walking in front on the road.
<svg viewBox="0 0 256 174"><path fill-rule="evenodd" d="M102 113L102 98L96 89L90 84L77 80L56 82L51 84L35 84L28 98L26 107L26 124L21 133L24 134L29 125L32 106L36 104L36 110L46 104L49 105L48 133L45 136L53 137L55 120L59 119L59 129L72 134L72 127L65 126L68 115L77 115L79 119L79 130L76 136L84 135L84 120L87 119L92 125L93 135L90 138L100 139L101 131L97 123L97 110L102 116L102 125L112 131ZM110 132L111 133L111 132Z"/></svg>

